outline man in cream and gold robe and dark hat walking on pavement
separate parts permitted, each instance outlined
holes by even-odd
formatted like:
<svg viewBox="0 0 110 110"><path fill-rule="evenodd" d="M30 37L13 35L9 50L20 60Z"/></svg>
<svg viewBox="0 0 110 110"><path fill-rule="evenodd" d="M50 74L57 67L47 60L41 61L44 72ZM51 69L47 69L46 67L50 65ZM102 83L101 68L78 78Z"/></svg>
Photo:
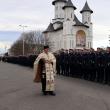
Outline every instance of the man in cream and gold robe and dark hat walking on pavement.
<svg viewBox="0 0 110 110"><path fill-rule="evenodd" d="M36 58L34 72L34 82L42 83L43 94L55 96L56 58L49 52L49 46L44 46L44 51Z"/></svg>

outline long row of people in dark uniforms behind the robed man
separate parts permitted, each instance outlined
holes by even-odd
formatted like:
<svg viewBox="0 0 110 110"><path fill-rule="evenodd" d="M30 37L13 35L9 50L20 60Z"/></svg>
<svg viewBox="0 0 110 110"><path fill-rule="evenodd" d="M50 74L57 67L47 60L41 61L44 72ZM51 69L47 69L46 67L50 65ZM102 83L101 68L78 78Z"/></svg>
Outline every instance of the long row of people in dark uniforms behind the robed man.
<svg viewBox="0 0 110 110"><path fill-rule="evenodd" d="M110 84L110 52L61 51L55 54L57 74ZM4 62L33 67L37 55L2 57Z"/></svg>

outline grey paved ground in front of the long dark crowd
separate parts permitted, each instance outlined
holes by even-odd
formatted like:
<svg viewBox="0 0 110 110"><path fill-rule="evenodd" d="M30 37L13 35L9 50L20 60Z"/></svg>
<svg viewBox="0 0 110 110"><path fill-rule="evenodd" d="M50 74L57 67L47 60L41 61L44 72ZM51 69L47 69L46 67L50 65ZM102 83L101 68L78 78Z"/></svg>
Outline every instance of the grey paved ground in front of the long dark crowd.
<svg viewBox="0 0 110 110"><path fill-rule="evenodd" d="M110 110L110 87L56 77L56 96L42 96L33 71L0 63L0 110Z"/></svg>

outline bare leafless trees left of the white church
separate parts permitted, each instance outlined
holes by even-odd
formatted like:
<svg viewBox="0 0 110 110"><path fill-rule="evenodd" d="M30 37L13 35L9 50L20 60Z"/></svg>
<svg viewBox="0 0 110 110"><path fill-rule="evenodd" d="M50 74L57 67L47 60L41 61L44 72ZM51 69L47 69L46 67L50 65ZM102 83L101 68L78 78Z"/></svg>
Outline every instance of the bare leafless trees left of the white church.
<svg viewBox="0 0 110 110"><path fill-rule="evenodd" d="M41 31L22 33L20 38L10 48L13 55L22 55L24 39L24 55L37 54L43 49L43 36Z"/></svg>

